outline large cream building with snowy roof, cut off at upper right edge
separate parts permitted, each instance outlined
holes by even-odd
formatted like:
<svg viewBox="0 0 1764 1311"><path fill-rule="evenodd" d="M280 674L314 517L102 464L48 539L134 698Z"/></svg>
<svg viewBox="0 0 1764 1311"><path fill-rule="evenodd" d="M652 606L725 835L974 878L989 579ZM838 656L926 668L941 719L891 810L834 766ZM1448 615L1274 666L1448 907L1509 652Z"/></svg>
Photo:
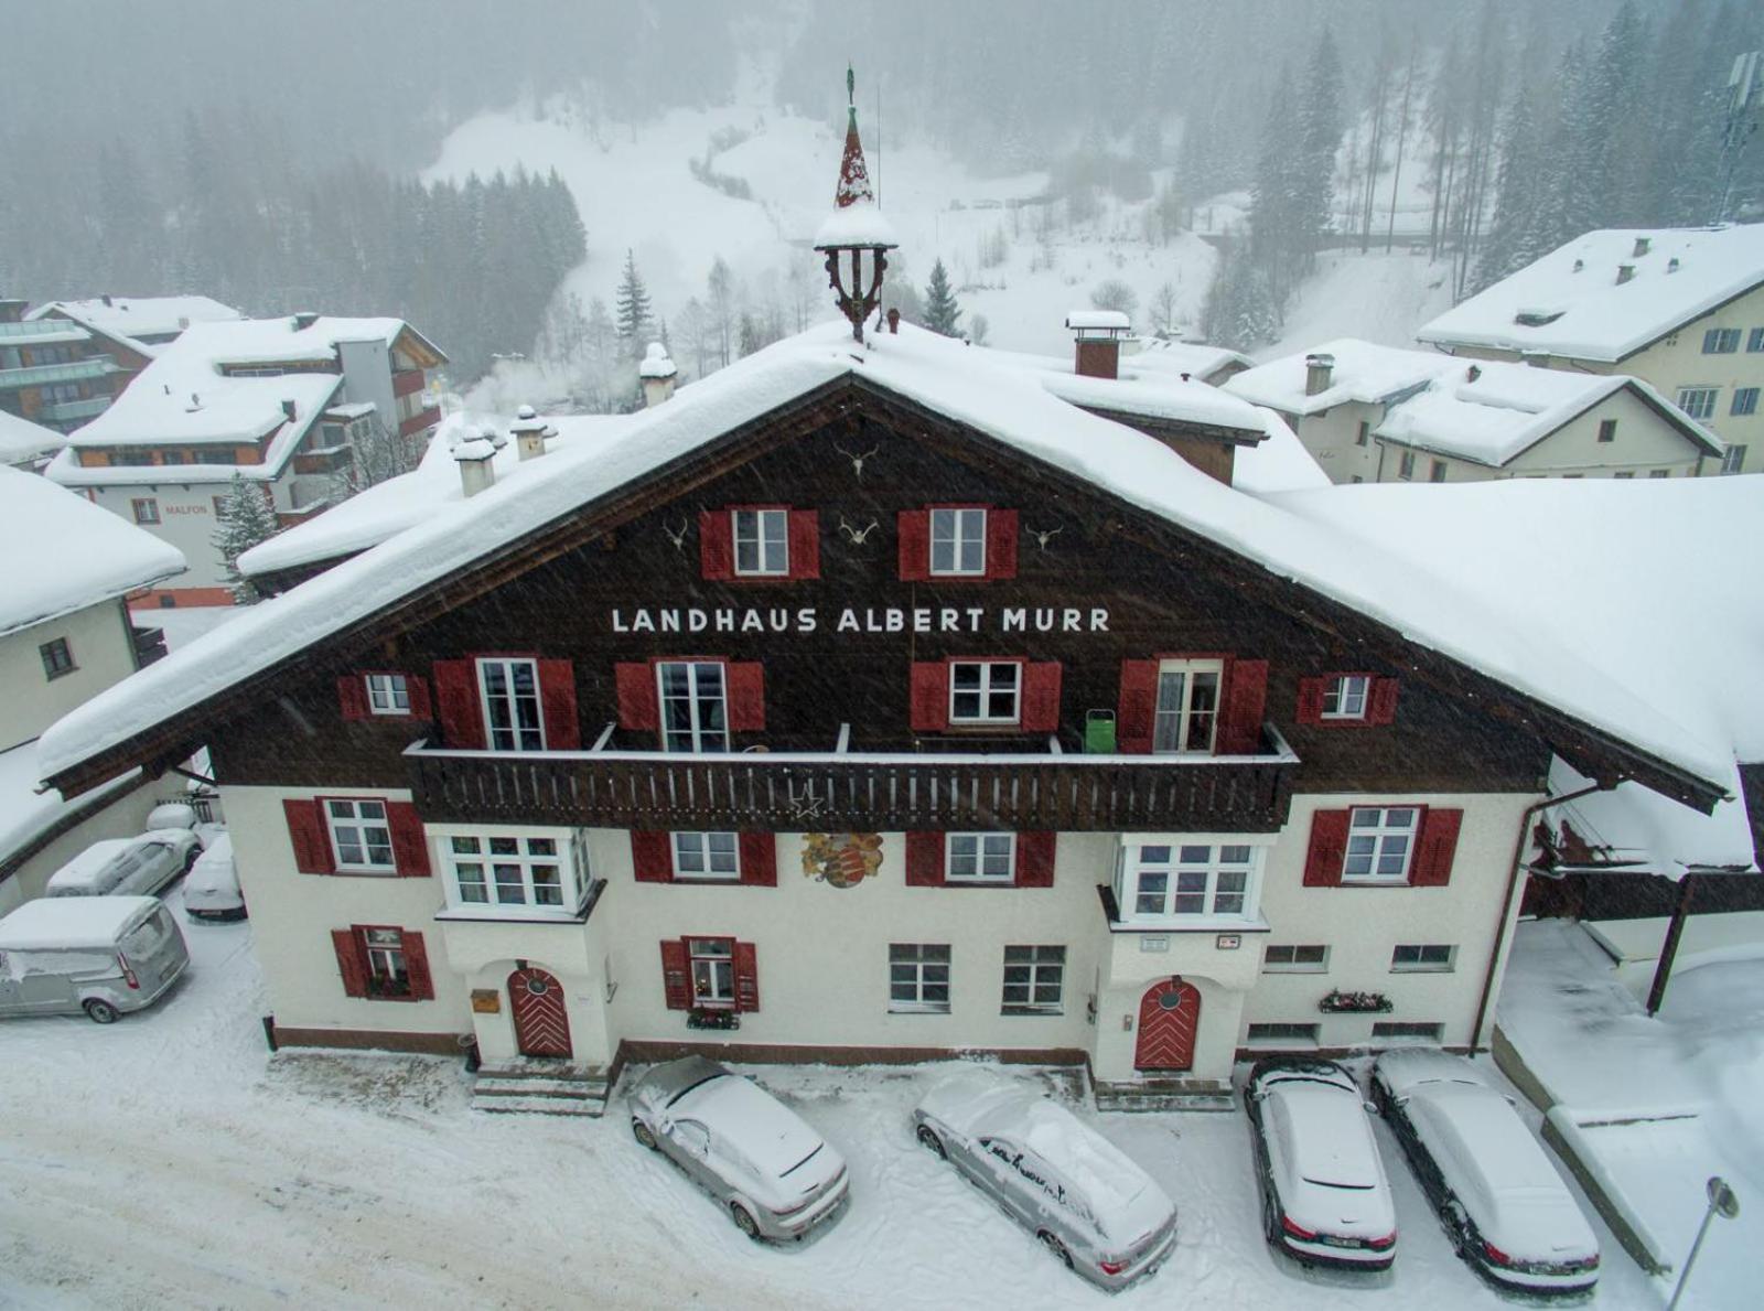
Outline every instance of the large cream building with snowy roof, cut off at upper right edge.
<svg viewBox="0 0 1764 1311"><path fill-rule="evenodd" d="M1452 355L1632 374L1764 469L1764 224L1588 233L1418 333Z"/></svg>

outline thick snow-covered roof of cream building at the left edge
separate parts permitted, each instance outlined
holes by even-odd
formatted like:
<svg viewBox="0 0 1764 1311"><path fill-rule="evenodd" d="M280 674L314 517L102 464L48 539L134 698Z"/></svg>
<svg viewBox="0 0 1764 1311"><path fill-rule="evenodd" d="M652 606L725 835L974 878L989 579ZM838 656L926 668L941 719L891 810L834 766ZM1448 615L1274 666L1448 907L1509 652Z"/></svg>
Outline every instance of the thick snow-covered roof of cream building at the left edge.
<svg viewBox="0 0 1764 1311"><path fill-rule="evenodd" d="M0 635L185 568L169 542L23 469L0 468Z"/></svg>

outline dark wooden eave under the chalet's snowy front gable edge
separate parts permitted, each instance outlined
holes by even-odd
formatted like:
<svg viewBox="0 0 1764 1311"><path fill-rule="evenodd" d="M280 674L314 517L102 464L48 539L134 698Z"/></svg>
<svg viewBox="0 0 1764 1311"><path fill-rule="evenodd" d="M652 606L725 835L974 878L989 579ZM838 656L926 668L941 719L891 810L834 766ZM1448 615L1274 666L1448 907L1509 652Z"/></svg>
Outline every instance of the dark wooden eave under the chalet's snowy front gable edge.
<svg viewBox="0 0 1764 1311"><path fill-rule="evenodd" d="M1192 528L1173 524L1078 475L1046 464L866 378L850 374L811 388L794 401L651 469L642 478L575 506L471 566L425 584L376 614L328 633L273 665L247 674L208 700L178 711L152 729L62 769L49 776L48 783L62 789L65 796L74 796L134 766L145 766L150 773L164 771L201 745L205 725L226 720L250 706L275 700L284 679L303 679L318 670L348 667L360 653L467 605L531 568L616 533L639 515L686 496L695 487L767 450L824 427L864 420L880 422L905 436L928 439L944 455L983 473L1021 476L1023 466L1032 464L1041 476L1053 478L1078 496L1102 505L1108 512L1108 531L1124 542L1178 563L1200 559L1208 566L1237 572L1244 577L1240 591L1254 602L1319 628L1349 646L1358 646L1406 670L1408 676L1424 679L1445 695L1542 738L1552 750L1570 759L1581 773L1602 785L1611 787L1633 778L1704 812L1713 810L1715 803L1725 796L1720 785L1612 738L1605 730L1517 692L1489 674L1418 646L1395 628L1302 582L1281 577L1259 561L1222 547Z"/></svg>

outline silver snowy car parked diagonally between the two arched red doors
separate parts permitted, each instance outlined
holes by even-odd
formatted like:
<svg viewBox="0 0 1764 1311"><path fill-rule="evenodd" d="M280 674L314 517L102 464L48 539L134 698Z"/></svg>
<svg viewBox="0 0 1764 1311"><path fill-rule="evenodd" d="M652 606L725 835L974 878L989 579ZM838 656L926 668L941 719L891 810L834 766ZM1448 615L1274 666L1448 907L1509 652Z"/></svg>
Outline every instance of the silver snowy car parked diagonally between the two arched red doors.
<svg viewBox="0 0 1764 1311"><path fill-rule="evenodd" d="M1164 1189L1048 1097L963 1071L926 1092L912 1119L924 1147L1094 1285L1125 1288L1177 1246L1177 1207Z"/></svg>

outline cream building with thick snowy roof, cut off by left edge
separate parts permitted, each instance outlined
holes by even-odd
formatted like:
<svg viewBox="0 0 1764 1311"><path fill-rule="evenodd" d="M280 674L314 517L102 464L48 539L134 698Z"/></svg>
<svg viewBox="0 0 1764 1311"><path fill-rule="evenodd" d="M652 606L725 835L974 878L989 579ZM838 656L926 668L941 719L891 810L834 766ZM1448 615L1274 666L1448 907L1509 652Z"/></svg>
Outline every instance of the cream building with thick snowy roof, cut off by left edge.
<svg viewBox="0 0 1764 1311"><path fill-rule="evenodd" d="M127 773L72 801L37 792L37 738L164 655L125 596L183 568L164 542L18 469L0 469L0 914L99 838L139 833L153 792Z"/></svg>

